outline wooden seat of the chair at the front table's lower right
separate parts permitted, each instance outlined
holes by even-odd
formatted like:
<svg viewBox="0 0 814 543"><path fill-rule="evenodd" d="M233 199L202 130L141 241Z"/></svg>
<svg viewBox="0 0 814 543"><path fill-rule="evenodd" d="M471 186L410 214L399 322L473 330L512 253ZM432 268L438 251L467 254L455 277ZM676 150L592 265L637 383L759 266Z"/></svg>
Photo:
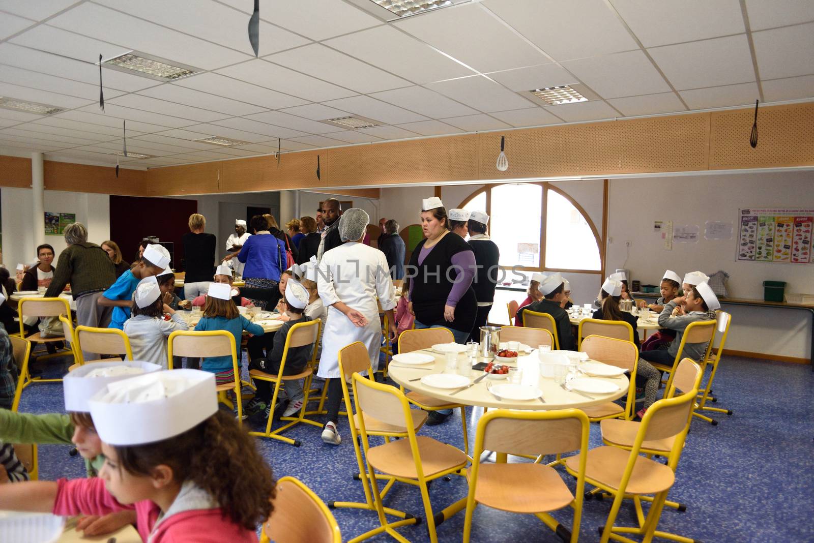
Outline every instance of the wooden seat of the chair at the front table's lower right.
<svg viewBox="0 0 814 543"><path fill-rule="evenodd" d="M580 455L566 458L565 464L571 470L579 470ZM585 480L593 484L597 481L611 489L619 489L619 484L628 465L630 451L616 447L602 446L588 451L585 465ZM624 490L628 494L654 494L669 489L676 479L672 469L650 458L639 456Z"/></svg>

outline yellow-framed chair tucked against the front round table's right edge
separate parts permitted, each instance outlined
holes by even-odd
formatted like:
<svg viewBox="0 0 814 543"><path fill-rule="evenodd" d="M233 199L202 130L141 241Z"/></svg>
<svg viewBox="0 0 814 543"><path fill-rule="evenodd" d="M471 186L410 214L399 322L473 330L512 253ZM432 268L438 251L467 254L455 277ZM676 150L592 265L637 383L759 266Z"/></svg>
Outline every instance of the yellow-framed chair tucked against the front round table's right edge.
<svg viewBox="0 0 814 543"><path fill-rule="evenodd" d="M627 323L625 323L627 324ZM629 328L628 324L628 328ZM632 341L605 336L589 336L582 341L580 350L592 360L629 371L630 384L624 407L616 402L605 402L598 406L584 407L592 423L603 419L631 420L636 411L636 368L639 363L639 350Z"/></svg>

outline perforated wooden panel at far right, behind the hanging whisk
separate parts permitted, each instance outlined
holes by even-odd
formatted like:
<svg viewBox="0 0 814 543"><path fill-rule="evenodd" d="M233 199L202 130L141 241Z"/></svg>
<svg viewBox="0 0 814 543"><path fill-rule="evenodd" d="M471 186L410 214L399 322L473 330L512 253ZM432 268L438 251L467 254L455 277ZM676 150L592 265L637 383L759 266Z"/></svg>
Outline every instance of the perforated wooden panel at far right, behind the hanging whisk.
<svg viewBox="0 0 814 543"><path fill-rule="evenodd" d="M761 106L758 146L749 145L754 110L713 111L710 169L792 167L814 164L811 103Z"/></svg>

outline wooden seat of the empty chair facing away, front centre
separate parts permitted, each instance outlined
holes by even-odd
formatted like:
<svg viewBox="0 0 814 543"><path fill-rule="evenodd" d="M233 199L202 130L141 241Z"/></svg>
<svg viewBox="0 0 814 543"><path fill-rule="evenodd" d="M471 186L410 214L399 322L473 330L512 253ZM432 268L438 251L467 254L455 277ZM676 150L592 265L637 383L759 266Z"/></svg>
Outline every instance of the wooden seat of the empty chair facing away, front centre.
<svg viewBox="0 0 814 543"><path fill-rule="evenodd" d="M466 470L470 479L472 468ZM475 501L514 513L545 513L562 509L574 495L553 467L545 464L481 464Z"/></svg>

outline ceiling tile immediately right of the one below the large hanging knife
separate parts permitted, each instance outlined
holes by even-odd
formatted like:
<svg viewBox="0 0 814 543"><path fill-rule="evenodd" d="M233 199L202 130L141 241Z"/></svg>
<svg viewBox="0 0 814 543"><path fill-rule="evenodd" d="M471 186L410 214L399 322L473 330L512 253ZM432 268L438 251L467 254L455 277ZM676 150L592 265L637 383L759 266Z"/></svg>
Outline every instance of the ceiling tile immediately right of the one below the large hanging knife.
<svg viewBox="0 0 814 543"><path fill-rule="evenodd" d="M319 43L283 51L265 57L273 63L282 64L298 72L330 81L335 85L352 89L357 93L374 93L379 90L406 87L410 83L393 76L378 67L339 53Z"/></svg>

